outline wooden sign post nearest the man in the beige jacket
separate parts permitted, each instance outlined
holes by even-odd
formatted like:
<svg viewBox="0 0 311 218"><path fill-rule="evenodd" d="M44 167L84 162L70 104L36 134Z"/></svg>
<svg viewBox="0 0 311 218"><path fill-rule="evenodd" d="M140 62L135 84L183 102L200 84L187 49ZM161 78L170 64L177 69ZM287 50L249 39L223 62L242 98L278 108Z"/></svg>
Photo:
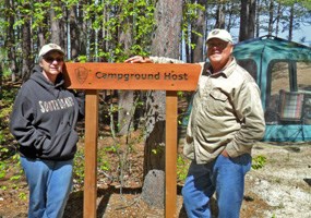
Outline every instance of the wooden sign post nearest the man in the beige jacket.
<svg viewBox="0 0 311 218"><path fill-rule="evenodd" d="M176 217L177 92L166 92L165 217Z"/></svg>

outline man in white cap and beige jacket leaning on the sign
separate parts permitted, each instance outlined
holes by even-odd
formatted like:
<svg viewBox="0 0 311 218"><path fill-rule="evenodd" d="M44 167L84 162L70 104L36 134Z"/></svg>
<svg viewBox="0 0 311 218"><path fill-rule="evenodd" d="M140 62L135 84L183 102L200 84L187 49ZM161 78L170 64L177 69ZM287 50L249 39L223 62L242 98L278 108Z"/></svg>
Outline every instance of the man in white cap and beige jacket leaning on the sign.
<svg viewBox="0 0 311 218"><path fill-rule="evenodd" d="M231 35L212 31L206 40L210 63L193 97L183 154L192 160L182 189L190 218L212 217L216 193L219 218L237 218L251 168L251 149L265 130L260 89L232 56ZM177 62L174 59L133 57L127 62Z"/></svg>

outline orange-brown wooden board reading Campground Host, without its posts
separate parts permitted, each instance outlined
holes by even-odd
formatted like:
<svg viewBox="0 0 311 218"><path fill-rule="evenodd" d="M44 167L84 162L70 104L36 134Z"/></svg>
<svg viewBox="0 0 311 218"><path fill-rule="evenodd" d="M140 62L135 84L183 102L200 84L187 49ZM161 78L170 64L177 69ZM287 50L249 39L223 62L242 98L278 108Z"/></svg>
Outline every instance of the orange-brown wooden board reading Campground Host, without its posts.
<svg viewBox="0 0 311 218"><path fill-rule="evenodd" d="M200 64L65 63L65 81L75 89L194 90ZM70 72L70 73L68 73Z"/></svg>

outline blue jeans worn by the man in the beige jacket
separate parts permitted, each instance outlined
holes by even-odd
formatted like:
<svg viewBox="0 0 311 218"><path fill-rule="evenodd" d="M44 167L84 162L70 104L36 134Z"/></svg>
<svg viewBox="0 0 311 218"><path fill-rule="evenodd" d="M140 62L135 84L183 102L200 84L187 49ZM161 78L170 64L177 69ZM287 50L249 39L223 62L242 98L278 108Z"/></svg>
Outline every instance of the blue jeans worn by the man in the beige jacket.
<svg viewBox="0 0 311 218"><path fill-rule="evenodd" d="M218 217L238 218L244 193L244 175L251 168L251 156L226 158L219 155L206 165L192 161L182 189L189 218L211 218L210 201L216 192Z"/></svg>

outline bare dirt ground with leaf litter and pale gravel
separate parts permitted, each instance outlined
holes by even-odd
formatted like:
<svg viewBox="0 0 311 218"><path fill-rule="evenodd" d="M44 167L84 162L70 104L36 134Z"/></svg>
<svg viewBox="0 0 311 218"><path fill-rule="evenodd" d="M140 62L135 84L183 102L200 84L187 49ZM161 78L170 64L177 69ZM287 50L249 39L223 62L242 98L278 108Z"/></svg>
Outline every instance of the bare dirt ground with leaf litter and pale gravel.
<svg viewBox="0 0 311 218"><path fill-rule="evenodd" d="M113 155L111 155L112 158ZM263 157L263 168L252 169L246 178L244 201L241 218L310 218L311 217L311 143L267 144L258 143L253 157ZM124 187L111 180L109 172L98 171L97 217L98 218L158 218L164 209L149 207L142 201L143 146L137 144L130 157L131 174ZM111 170L113 171L112 167ZM110 179L109 179L110 178ZM9 185L0 190L0 218L27 217L27 193L24 180L19 189ZM178 185L177 217L186 218ZM11 189L12 187L12 189ZM68 201L64 218L83 217L83 192L72 192Z"/></svg>

